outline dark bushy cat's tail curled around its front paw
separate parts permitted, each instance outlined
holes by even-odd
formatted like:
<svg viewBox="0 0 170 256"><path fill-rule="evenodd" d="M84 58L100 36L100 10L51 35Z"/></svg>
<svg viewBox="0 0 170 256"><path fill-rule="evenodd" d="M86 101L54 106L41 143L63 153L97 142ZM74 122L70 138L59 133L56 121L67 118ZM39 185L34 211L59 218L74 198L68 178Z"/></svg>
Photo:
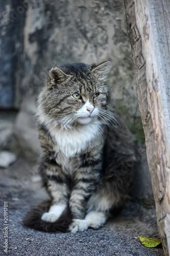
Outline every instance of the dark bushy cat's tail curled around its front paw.
<svg viewBox="0 0 170 256"><path fill-rule="evenodd" d="M51 203L51 200L46 200L38 204L28 212L26 218L23 220L23 224L26 227L45 232L66 232L72 222L69 207L67 207L61 217L53 223L41 220L42 214L50 209Z"/></svg>

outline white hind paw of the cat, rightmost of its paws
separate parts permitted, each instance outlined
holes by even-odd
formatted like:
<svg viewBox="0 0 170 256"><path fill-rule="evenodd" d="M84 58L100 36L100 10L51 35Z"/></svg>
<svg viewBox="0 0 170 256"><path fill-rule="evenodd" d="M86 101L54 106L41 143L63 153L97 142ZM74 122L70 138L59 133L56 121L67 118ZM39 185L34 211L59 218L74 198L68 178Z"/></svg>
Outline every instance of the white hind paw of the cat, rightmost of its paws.
<svg viewBox="0 0 170 256"><path fill-rule="evenodd" d="M87 221L89 227L98 229L105 224L107 217L104 212L90 211L86 215L85 220Z"/></svg>

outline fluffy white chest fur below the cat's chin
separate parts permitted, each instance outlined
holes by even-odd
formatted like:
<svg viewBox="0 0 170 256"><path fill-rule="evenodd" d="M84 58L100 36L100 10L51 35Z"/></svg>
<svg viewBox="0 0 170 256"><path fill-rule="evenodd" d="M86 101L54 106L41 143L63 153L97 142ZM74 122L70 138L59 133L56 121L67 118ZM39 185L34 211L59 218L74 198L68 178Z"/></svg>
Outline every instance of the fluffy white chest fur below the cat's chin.
<svg viewBox="0 0 170 256"><path fill-rule="evenodd" d="M63 129L61 132L59 127L54 127L52 123L48 123L47 126L52 138L56 141L58 150L68 159L87 147L88 142L93 140L100 130L101 124L99 122L88 123L67 130Z"/></svg>

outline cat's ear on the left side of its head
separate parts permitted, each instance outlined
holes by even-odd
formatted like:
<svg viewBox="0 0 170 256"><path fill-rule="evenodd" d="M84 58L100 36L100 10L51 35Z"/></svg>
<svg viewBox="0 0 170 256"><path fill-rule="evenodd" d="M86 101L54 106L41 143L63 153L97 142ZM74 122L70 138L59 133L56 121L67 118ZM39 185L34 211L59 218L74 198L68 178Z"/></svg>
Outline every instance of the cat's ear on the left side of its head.
<svg viewBox="0 0 170 256"><path fill-rule="evenodd" d="M50 70L50 84L53 86L59 82L66 81L68 78L70 78L71 75L65 74L61 69L59 68L52 68Z"/></svg>

